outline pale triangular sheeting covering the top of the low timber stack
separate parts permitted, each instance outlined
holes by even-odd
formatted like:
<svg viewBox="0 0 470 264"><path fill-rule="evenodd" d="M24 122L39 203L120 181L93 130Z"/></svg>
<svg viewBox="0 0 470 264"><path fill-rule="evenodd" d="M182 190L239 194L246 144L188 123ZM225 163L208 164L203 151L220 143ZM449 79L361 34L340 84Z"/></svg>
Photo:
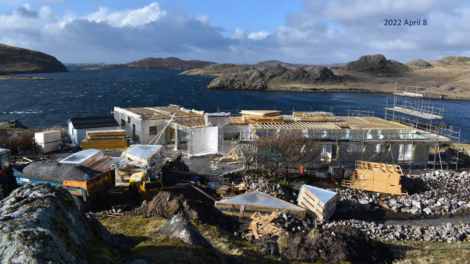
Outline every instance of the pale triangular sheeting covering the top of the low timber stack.
<svg viewBox="0 0 470 264"><path fill-rule="evenodd" d="M244 204L244 205L258 205L258 206L269 206L269 207L283 207L287 209L299 209L302 210L302 207L293 205L288 202L271 197L267 194L261 193L259 191L253 191L245 193L230 199L221 200L220 202L224 203L233 203L233 204Z"/></svg>

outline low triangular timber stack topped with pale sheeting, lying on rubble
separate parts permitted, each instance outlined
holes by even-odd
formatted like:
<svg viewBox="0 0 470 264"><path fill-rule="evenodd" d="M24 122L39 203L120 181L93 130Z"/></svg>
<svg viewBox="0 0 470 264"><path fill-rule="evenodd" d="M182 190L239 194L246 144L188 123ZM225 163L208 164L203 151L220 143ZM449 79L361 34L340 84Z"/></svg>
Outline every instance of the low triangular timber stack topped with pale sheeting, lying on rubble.
<svg viewBox="0 0 470 264"><path fill-rule="evenodd" d="M300 218L305 217L305 209L286 201L274 198L259 191L253 191L230 199L215 202L215 207L227 215L250 217L256 212L286 212Z"/></svg>

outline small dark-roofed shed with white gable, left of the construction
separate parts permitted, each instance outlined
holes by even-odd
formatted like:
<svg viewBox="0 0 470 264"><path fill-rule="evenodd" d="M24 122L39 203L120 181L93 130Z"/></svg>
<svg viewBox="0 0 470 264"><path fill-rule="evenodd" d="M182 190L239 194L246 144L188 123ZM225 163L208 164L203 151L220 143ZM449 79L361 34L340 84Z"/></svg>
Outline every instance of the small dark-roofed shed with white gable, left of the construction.
<svg viewBox="0 0 470 264"><path fill-rule="evenodd" d="M67 123L68 134L76 146L81 145L87 131L120 129L113 116L73 117Z"/></svg>

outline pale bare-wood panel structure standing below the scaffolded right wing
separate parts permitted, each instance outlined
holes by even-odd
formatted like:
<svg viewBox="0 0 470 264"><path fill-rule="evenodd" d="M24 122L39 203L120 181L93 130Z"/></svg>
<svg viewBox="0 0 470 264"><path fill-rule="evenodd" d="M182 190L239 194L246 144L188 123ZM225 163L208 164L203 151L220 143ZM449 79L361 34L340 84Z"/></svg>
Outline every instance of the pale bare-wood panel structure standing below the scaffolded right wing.
<svg viewBox="0 0 470 264"><path fill-rule="evenodd" d="M356 170L350 180L343 180L343 186L393 195L408 194L401 185L403 172L400 166L357 161Z"/></svg>

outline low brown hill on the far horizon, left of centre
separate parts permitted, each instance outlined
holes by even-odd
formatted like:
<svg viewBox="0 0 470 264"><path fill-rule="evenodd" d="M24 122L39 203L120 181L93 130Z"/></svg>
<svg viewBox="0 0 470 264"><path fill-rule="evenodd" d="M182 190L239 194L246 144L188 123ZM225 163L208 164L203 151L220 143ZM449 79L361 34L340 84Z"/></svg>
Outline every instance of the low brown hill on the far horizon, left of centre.
<svg viewBox="0 0 470 264"><path fill-rule="evenodd" d="M125 64L108 65L110 68L140 68L140 69L168 69L168 70L190 70L204 68L214 62L200 60L181 60L174 57L168 58L145 58Z"/></svg>

